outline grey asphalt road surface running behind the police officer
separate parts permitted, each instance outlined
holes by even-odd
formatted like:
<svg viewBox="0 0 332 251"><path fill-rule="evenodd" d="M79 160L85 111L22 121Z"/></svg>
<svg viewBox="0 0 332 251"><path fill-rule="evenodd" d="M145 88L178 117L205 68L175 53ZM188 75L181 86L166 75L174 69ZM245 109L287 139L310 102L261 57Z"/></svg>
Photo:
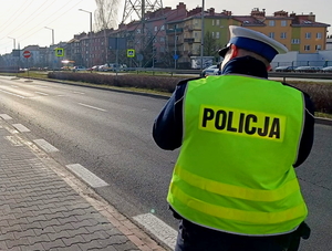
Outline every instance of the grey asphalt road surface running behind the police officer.
<svg viewBox="0 0 332 251"><path fill-rule="evenodd" d="M128 217L154 212L177 222L166 194L178 151L158 149L152 126L165 98L0 77L0 114L13 117L59 149L62 165L80 164L110 186L97 192ZM301 250L331 250L332 126L317 125L309 159L297 171L308 201L312 238Z"/></svg>

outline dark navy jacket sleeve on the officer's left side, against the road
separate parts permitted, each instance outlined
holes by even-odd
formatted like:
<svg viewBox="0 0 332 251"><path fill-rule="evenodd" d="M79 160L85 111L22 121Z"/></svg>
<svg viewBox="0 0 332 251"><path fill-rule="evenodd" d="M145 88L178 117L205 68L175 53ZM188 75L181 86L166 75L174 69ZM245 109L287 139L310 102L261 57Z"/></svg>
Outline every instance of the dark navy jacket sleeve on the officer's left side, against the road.
<svg viewBox="0 0 332 251"><path fill-rule="evenodd" d="M183 101L187 81L179 82L173 95L154 122L154 140L165 150L174 150L181 145Z"/></svg>

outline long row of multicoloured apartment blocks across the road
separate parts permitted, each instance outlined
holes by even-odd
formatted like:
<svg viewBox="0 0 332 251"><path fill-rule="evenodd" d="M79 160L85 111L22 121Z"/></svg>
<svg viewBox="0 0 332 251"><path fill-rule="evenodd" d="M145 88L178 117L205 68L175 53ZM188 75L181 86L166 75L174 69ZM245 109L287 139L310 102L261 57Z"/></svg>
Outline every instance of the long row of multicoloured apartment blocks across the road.
<svg viewBox="0 0 332 251"><path fill-rule="evenodd" d="M128 66L186 69L191 56L200 56L201 42L204 56L218 60L218 49L229 41L229 25L259 31L298 53L331 50L331 42L326 40L330 24L318 22L312 12L297 14L280 10L268 15L264 9L253 8L248 15L235 15L231 11L217 12L210 8L204 11L204 17L201 13L201 8L187 10L186 4L179 2L175 9L166 7L147 12L143 20L121 23L116 30L83 32L63 45L65 59L84 66L117 61ZM114 41L120 41L121 46L114 46ZM127 49L135 50L135 57L127 57ZM34 55L31 64L52 62L51 46L29 50Z"/></svg>

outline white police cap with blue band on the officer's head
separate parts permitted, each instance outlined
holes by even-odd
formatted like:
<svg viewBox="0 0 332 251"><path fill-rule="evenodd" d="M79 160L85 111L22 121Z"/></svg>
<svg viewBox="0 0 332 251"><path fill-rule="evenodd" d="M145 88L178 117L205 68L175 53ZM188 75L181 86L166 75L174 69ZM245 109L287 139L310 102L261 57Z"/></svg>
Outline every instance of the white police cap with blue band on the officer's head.
<svg viewBox="0 0 332 251"><path fill-rule="evenodd" d="M240 49L255 52L269 62L277 54L287 53L288 49L278 41L264 35L261 32L249 30L243 27L229 25L230 40L226 48L219 50L219 55L225 57L230 44L235 44Z"/></svg>

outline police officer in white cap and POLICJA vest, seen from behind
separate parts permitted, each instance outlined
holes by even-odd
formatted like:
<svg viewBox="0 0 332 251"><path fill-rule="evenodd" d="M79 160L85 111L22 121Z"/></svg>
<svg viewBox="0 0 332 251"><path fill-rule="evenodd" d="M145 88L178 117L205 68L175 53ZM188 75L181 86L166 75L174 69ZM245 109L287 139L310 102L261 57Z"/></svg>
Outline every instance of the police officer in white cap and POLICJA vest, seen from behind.
<svg viewBox="0 0 332 251"><path fill-rule="evenodd" d="M298 250L310 229L294 168L312 147L313 104L268 80L286 46L229 31L221 75L179 82L153 127L160 148L181 147L167 196L180 220L175 250Z"/></svg>

